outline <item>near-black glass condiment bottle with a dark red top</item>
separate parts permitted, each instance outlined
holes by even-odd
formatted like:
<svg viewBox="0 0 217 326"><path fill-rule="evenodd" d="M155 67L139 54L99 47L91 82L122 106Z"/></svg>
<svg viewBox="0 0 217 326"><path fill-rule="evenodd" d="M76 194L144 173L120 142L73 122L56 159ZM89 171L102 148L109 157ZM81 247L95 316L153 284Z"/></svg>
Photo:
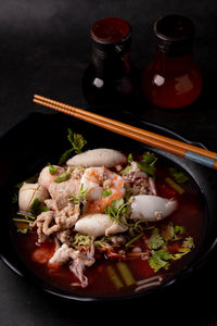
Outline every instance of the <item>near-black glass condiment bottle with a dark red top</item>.
<svg viewBox="0 0 217 326"><path fill-rule="evenodd" d="M131 28L118 17L105 17L91 28L91 62L82 78L90 104L130 103L140 80L129 59Z"/></svg>

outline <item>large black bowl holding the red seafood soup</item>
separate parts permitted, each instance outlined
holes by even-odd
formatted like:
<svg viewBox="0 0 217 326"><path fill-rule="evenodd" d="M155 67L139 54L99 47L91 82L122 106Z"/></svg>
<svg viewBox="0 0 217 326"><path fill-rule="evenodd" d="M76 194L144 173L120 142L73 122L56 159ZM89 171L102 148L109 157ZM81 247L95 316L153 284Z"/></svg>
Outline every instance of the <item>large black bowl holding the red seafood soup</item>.
<svg viewBox="0 0 217 326"><path fill-rule="evenodd" d="M124 116L123 116L124 118ZM126 115L125 120L132 121L132 115ZM136 124L132 123L133 125ZM137 125L144 129L166 135L187 141L177 134L174 134L159 126L145 122L137 122ZM133 296L117 298L89 298L77 293L61 290L51 286L34 275L22 262L16 252L12 237L12 204L11 198L15 184L26 179L40 171L48 162L58 162L60 155L68 148L66 139L67 127L75 133L80 133L88 139L89 148L108 147L119 150L136 148L138 150L149 149L157 153L164 160L169 160L173 164L183 170L197 185L201 198L205 205L205 230L201 246L192 260L173 278L165 281L161 287L146 290ZM214 251L217 243L217 218L216 218L216 189L217 177L215 172L200 166L193 162L163 152L161 150L141 145L126 137L118 136L111 131L101 129L81 121L74 121L63 114L39 114L34 113L16 127L10 130L0 140L1 160L0 160L0 198L1 198L1 228L4 230L0 237L0 255L2 261L16 274L31 283L37 284L44 291L54 296L74 299L79 301L98 301L107 299L129 299L146 296L168 288L168 286L179 284L186 276L196 271ZM9 240L10 239L10 240Z"/></svg>

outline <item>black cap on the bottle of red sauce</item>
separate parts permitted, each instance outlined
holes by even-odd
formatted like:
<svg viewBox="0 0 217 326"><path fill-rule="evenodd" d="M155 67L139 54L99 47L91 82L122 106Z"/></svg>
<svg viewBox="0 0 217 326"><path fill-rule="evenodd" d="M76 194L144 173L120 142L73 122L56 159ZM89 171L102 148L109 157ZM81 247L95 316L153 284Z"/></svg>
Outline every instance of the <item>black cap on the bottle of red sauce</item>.
<svg viewBox="0 0 217 326"><path fill-rule="evenodd" d="M180 15L166 15L156 21L154 33L157 48L169 57L183 55L192 50L194 25Z"/></svg>

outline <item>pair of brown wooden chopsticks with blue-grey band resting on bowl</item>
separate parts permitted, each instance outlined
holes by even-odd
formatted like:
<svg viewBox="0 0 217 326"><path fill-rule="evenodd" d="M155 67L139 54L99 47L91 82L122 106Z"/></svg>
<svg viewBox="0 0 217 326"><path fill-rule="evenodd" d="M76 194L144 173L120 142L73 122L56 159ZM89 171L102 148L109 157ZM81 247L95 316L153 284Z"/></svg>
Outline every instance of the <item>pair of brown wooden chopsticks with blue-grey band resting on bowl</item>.
<svg viewBox="0 0 217 326"><path fill-rule="evenodd" d="M158 148L166 152L176 154L203 164L210 168L217 170L217 153L206 149L189 145L176 139L171 139L152 131L137 128L125 123L85 111L72 105L64 104L38 95L34 96L34 102L52 110L68 114L88 123L94 124L99 127L105 128L113 133L126 136L137 141L146 143L149 146Z"/></svg>

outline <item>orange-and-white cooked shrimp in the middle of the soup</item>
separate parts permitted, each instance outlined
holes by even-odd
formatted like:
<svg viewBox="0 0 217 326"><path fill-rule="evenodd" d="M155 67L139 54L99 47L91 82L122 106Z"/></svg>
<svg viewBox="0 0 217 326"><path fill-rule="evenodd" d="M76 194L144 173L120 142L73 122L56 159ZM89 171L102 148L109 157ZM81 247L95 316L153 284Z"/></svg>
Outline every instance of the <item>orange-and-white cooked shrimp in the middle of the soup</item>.
<svg viewBox="0 0 217 326"><path fill-rule="evenodd" d="M124 198L124 179L106 167L86 168L80 184L87 189L86 214L102 213L113 200Z"/></svg>

